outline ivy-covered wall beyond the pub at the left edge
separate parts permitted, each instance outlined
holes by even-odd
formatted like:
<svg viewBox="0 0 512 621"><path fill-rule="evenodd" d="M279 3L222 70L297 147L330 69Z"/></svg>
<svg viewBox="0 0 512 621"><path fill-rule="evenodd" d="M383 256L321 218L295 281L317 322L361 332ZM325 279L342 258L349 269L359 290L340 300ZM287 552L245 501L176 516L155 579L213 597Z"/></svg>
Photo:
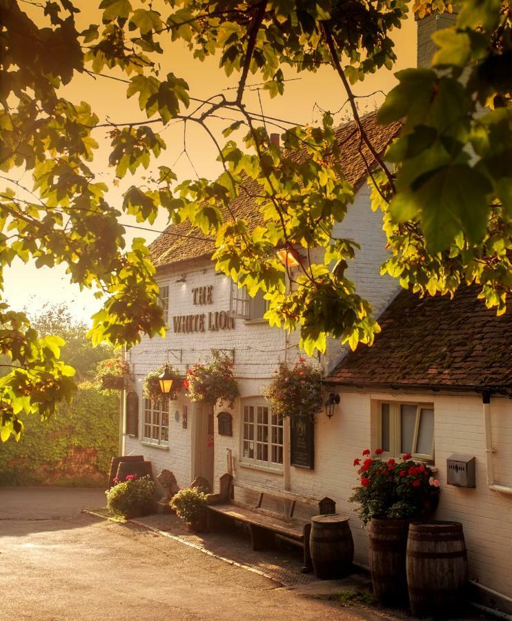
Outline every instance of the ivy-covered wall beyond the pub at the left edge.
<svg viewBox="0 0 512 621"><path fill-rule="evenodd" d="M55 418L30 417L19 442L0 442L0 486L105 485L118 430L119 391L83 382Z"/></svg>

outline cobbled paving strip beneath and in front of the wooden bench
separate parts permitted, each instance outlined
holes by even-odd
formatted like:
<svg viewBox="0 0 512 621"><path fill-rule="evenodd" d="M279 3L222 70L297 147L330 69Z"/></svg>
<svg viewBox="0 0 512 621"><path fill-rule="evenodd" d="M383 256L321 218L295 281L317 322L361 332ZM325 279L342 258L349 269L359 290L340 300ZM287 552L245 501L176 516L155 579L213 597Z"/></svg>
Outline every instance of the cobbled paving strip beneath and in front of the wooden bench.
<svg viewBox="0 0 512 621"><path fill-rule="evenodd" d="M254 551L250 545L249 534L243 525L234 526L228 532L190 533L184 523L172 513L139 517L137 522L167 532L222 558L260 571L286 586L317 582L313 573L301 573L302 551L298 547L283 541L279 542L275 550Z"/></svg>

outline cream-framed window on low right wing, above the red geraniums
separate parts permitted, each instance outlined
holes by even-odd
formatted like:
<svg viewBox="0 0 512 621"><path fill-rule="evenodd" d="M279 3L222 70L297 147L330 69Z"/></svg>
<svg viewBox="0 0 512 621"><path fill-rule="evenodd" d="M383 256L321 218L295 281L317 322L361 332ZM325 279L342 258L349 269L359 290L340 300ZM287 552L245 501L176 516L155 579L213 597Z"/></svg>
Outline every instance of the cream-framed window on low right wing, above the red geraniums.
<svg viewBox="0 0 512 621"><path fill-rule="evenodd" d="M434 407L413 402L379 404L379 444L385 453L411 453L418 460L434 460Z"/></svg>

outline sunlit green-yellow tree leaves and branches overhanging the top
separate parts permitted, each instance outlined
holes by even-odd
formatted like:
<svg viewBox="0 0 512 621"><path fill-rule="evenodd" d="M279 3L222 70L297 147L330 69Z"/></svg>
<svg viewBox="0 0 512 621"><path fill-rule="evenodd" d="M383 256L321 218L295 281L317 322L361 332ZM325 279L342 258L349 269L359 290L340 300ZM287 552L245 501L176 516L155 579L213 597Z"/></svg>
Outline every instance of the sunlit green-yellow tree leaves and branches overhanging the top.
<svg viewBox="0 0 512 621"><path fill-rule="evenodd" d="M337 161L333 115L326 112L319 127L267 119L282 132L280 150L262 115L244 103L250 75L275 97L285 92L285 69L315 72L327 63L346 88L361 157L377 164L365 160L391 249L383 271L431 295L477 282L486 304L504 312L512 281L509 2L461 0L453 28L435 34L434 68L397 75L380 120L404 125L384 162L360 123L351 85L393 67L393 32L410 8L419 16L451 10L443 0L102 0L96 23L82 29L72 0L0 0L0 268L16 257L65 264L71 282L104 296L93 342L131 346L142 333L164 333L164 319L144 241L126 248L118 218L152 224L164 209L171 222L188 219L215 235L217 268L251 295L264 290L268 321L299 328L307 353L323 351L328 333L352 347L371 344L379 327L345 274L356 246L333 236L354 196ZM216 56L226 75L239 76L232 99L197 99L185 77L161 74L159 57L177 40L197 61ZM84 73L125 83L141 118L102 123L86 101L66 99L61 87ZM209 125L222 110L237 117L224 144ZM177 184L173 170L158 166L126 192L121 208L108 204L107 186L91 168L97 130L110 130L108 165L121 179L150 166L166 149L161 131L179 120L214 141L221 175ZM239 145L233 132L242 128ZM304 148L310 159L294 157ZM250 230L230 213L239 193L251 193L264 226ZM275 255L283 247L299 248L291 292ZM0 324L2 350L15 367L0 381L5 440L19 436L23 415L51 415L74 383L59 360L60 339L39 339L26 315L3 303Z"/></svg>

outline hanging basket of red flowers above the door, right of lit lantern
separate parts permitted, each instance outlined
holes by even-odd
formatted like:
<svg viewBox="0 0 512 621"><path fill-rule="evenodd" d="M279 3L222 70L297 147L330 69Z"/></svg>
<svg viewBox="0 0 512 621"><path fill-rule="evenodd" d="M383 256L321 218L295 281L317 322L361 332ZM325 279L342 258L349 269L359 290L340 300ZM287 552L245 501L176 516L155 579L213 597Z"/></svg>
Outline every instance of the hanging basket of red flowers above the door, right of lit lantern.
<svg viewBox="0 0 512 621"><path fill-rule="evenodd" d="M212 359L206 364L195 364L187 371L188 396L215 406L226 403L233 408L239 397L238 384L233 375L233 362L218 351L212 351Z"/></svg>

